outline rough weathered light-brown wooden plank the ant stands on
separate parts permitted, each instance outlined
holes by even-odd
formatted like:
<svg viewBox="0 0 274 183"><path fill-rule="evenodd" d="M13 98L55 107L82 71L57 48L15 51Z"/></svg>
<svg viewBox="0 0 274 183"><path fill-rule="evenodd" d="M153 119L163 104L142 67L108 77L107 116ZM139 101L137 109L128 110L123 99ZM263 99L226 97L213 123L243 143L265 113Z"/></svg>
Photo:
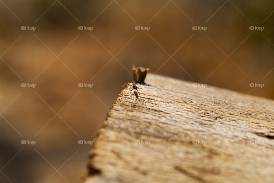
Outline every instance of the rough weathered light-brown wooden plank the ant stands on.
<svg viewBox="0 0 274 183"><path fill-rule="evenodd" d="M273 101L148 74L125 84L88 160L91 182L274 182Z"/></svg>

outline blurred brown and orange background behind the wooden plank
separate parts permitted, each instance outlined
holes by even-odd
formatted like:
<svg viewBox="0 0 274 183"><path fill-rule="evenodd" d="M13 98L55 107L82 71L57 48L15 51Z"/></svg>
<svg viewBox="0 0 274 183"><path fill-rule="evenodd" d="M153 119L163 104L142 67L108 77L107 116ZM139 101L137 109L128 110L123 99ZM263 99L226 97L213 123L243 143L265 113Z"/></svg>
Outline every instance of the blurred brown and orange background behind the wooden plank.
<svg viewBox="0 0 274 183"><path fill-rule="evenodd" d="M94 139L134 62L274 98L273 11L271 0L0 0L0 182L81 182L91 146L78 140Z"/></svg>

